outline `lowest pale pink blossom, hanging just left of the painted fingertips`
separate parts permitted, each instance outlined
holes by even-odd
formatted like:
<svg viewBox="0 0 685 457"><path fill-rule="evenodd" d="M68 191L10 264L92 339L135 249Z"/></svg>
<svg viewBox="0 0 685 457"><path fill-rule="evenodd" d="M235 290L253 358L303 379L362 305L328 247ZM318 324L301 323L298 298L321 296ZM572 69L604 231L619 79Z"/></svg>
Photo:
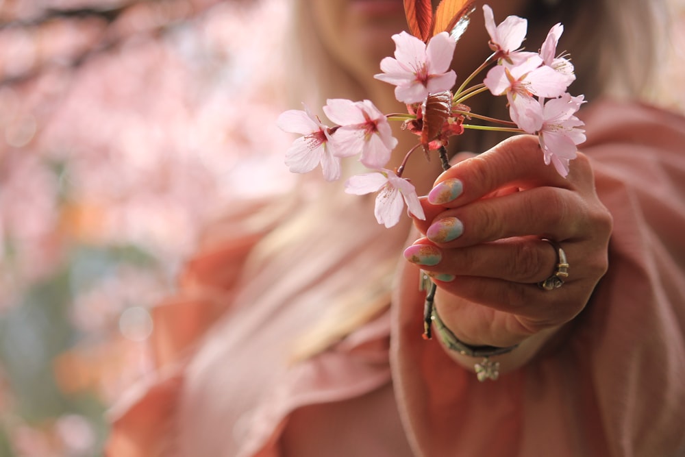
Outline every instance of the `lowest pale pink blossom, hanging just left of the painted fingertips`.
<svg viewBox="0 0 685 457"><path fill-rule="evenodd" d="M425 214L416 188L394 171L380 169L373 173L352 176L345 182L345 192L354 195L366 195L378 192L373 213L379 224L393 227L399 222L404 203L415 217L425 220Z"/></svg>

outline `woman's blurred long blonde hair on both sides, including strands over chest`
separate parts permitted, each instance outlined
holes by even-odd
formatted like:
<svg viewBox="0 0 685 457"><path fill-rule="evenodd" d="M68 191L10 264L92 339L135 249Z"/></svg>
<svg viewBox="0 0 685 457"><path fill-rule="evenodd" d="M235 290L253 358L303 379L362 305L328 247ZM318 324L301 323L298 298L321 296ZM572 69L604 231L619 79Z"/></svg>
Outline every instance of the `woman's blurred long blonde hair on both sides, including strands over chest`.
<svg viewBox="0 0 685 457"><path fill-rule="evenodd" d="M574 93L584 93L589 100L602 95L638 97L645 94L653 76L650 63L658 59L656 44L664 38L659 36L665 29L663 6L660 1L644 0L603 0L601 3L595 0L535 0L530 3L527 14L530 23L528 42L543 42L549 27L562 22L565 31L561 46L571 52L577 73ZM339 73L332 77L332 71L340 69L331 66L320 43L308 36L313 32L312 27L302 23L309 20L303 2L298 1L295 8L299 10L293 15L296 18L293 35L297 36L301 47L291 47L288 53L293 68L301 71L297 73L297 82L290 82L290 87L306 90L293 91L293 101L306 100L316 106L323 105L321 101L325 97L361 98L361 88L351 77L345 79ZM327 84L332 81L336 85ZM319 219L321 211L325 208L316 204L302 210L264 240L258 257L269 256L287 243L301 242L312 236L316 232L316 224L312 221ZM335 297L329 303L326 314L306 329L293 347L292 355L296 360L325 350L389 306L397 254L379 259L373 269L364 271L349 293Z"/></svg>

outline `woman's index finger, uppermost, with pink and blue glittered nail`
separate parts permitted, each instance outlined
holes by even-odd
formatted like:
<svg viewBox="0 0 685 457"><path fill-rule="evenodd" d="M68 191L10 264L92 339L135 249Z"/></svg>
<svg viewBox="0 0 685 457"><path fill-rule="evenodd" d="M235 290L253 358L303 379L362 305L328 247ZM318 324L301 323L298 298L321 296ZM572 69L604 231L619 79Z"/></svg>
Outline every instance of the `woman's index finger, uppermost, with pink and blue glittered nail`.
<svg viewBox="0 0 685 457"><path fill-rule="evenodd" d="M517 135L444 171L428 194L428 202L457 208L502 188L538 186L571 188L569 180L545 165L536 136Z"/></svg>

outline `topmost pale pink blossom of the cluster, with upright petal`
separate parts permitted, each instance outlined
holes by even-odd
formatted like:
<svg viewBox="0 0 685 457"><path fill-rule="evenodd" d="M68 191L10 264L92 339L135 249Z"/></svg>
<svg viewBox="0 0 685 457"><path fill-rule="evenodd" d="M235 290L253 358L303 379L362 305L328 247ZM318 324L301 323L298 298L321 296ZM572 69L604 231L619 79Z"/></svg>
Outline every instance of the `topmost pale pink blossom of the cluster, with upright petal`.
<svg viewBox="0 0 685 457"><path fill-rule="evenodd" d="M495 25L495 15L490 5L483 5L485 28L490 35L490 49L509 64L518 64L530 57L530 52L519 51L528 30L528 21L519 16L508 16Z"/></svg>

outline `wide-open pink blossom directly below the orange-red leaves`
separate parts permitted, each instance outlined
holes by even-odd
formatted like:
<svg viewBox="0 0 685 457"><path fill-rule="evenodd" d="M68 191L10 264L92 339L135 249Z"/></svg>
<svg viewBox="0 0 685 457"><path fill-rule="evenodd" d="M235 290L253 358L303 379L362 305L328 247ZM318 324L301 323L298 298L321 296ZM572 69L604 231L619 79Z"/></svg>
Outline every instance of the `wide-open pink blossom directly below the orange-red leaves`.
<svg viewBox="0 0 685 457"><path fill-rule="evenodd" d="M428 45L419 38L401 32L393 35L395 58L381 60L381 70L374 77L394 84L395 97L403 103L420 103L429 94L450 90L457 75L449 69L456 42L447 32L430 39Z"/></svg>

